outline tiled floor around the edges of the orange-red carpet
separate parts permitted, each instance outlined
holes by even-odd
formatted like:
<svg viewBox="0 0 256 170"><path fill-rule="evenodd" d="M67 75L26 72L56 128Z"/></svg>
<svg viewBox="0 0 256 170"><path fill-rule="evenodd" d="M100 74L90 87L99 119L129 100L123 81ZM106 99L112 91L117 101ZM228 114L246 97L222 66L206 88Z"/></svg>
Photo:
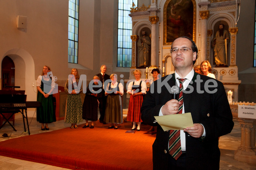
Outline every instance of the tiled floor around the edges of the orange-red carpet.
<svg viewBox="0 0 256 170"><path fill-rule="evenodd" d="M241 143L241 130L239 122L234 119L235 126L232 132L228 135L221 136L219 139L219 147L221 150L220 170L256 170L256 166L247 164L234 159L234 152ZM41 130L41 124L36 121L36 118L29 118L29 128L31 134L45 133ZM84 124L85 122L81 122ZM50 130L58 130L64 127L69 127L70 124L63 120L49 124ZM23 120L15 119L15 132L10 125L5 125L0 129L0 141L5 141L20 136L27 136L27 132L23 132ZM3 137L3 133L7 133L9 137ZM0 156L0 170L67 170L61 167L54 167L47 164L39 164L20 159L13 159L5 156ZM207 170L207 167L206 167Z"/></svg>

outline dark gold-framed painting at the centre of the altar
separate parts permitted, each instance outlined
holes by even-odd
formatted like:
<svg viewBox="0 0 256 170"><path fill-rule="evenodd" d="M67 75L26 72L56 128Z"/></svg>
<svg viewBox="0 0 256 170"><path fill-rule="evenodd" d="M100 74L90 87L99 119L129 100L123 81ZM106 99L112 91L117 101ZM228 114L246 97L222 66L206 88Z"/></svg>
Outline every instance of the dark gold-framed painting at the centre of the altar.
<svg viewBox="0 0 256 170"><path fill-rule="evenodd" d="M163 11L163 45L181 36L195 41L195 0L166 0Z"/></svg>

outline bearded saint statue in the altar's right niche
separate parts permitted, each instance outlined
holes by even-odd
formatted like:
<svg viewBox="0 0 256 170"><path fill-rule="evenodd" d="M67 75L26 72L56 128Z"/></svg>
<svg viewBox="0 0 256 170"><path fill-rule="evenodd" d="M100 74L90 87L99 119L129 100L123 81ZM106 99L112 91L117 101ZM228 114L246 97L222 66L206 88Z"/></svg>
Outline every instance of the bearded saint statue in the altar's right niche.
<svg viewBox="0 0 256 170"><path fill-rule="evenodd" d="M212 40L214 48L214 58L216 65L227 65L227 44L229 43L229 33L224 29L224 24L219 25L215 38Z"/></svg>

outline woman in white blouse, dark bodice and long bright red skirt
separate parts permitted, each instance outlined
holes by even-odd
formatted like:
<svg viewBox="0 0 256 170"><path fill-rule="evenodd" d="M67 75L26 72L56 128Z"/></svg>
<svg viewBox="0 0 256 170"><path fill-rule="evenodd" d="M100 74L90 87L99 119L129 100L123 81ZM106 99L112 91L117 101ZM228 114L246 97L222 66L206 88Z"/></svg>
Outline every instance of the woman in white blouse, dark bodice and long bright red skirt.
<svg viewBox="0 0 256 170"><path fill-rule="evenodd" d="M140 79L141 71L135 70L134 71L135 80L130 82L128 85L128 94L131 94L129 107L128 107L128 114L127 114L127 121L132 122L131 130L136 129L136 122L138 122L137 131L140 131L141 125L141 112L140 108L143 103L143 95L146 94L147 85L144 81Z"/></svg>

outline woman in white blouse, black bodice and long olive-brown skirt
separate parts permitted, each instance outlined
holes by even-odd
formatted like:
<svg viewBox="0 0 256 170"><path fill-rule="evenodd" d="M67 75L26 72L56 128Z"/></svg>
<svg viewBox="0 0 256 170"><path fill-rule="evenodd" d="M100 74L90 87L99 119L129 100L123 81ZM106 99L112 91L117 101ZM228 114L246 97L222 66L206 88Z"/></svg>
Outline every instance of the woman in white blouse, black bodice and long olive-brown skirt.
<svg viewBox="0 0 256 170"><path fill-rule="evenodd" d="M117 75L110 75L111 82L105 89L107 97L104 122L110 123L108 129L118 129L118 124L123 122L122 119L122 95L124 94L124 86L122 83L116 82ZM115 127L114 127L115 124Z"/></svg>

